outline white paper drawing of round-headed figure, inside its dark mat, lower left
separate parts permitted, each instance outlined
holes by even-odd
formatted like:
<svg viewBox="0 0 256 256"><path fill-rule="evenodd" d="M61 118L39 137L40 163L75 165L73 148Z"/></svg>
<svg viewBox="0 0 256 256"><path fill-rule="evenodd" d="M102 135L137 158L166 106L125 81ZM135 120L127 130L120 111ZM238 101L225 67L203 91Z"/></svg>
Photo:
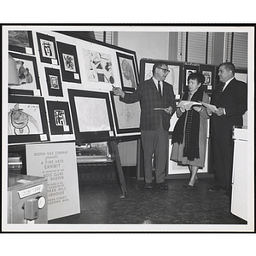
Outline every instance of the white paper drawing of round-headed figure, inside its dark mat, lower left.
<svg viewBox="0 0 256 256"><path fill-rule="evenodd" d="M43 133L39 105L11 104L8 113L8 135Z"/></svg>

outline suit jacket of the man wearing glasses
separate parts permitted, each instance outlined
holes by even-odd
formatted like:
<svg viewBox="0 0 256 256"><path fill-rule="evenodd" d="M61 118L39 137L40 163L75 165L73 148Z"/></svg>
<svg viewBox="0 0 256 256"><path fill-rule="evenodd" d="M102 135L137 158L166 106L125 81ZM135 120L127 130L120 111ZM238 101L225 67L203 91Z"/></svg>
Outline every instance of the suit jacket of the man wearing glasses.
<svg viewBox="0 0 256 256"><path fill-rule="evenodd" d="M154 108L172 107L172 114L176 110L175 96L171 84L164 81L163 96L160 97L153 79L148 79L137 86L132 94L125 93L125 97L120 100L125 103L134 103L140 101L141 104L141 130L154 131L159 128L160 115L162 116L163 128L169 130L171 115L163 110L154 110Z"/></svg>

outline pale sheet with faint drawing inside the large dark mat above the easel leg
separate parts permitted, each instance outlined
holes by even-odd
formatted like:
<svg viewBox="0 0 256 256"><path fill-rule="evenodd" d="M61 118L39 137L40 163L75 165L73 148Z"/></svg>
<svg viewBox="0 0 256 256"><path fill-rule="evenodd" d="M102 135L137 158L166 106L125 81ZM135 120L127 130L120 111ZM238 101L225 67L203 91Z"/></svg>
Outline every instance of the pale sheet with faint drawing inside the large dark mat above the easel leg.
<svg viewBox="0 0 256 256"><path fill-rule="evenodd" d="M74 97L79 131L111 131L106 100L102 98Z"/></svg>

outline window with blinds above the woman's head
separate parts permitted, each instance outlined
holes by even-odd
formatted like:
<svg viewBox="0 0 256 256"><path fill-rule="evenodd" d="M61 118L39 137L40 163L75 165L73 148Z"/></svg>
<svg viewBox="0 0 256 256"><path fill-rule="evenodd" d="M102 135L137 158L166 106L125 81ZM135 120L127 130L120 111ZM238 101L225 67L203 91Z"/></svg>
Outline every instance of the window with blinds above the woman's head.
<svg viewBox="0 0 256 256"><path fill-rule="evenodd" d="M178 32L177 61L212 64L213 32Z"/></svg>

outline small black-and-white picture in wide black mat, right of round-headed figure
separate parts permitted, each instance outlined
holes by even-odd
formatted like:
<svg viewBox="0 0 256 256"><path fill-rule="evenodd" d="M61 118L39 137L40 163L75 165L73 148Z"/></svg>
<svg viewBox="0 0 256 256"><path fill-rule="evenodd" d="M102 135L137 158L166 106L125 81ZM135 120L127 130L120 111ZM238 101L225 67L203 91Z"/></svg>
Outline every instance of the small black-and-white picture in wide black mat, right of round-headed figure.
<svg viewBox="0 0 256 256"><path fill-rule="evenodd" d="M68 102L47 101L49 128L52 135L73 134Z"/></svg>

